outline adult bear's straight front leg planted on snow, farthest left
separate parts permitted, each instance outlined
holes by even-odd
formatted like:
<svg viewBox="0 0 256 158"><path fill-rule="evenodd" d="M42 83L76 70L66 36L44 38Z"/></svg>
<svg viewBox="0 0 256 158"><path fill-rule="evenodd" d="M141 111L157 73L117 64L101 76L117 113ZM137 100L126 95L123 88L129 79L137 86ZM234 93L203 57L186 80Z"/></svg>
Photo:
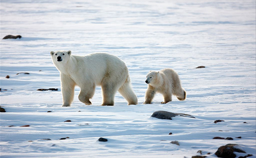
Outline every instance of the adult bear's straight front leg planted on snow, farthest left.
<svg viewBox="0 0 256 158"><path fill-rule="evenodd" d="M74 87L76 83L68 75L61 73L62 107L70 107L74 99Z"/></svg>

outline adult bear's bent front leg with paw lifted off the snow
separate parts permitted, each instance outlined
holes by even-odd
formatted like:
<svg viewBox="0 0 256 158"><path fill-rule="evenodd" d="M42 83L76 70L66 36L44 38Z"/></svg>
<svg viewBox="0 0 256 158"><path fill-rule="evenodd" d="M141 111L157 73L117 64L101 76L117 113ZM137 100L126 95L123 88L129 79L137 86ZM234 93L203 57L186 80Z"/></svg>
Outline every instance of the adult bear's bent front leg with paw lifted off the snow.
<svg viewBox="0 0 256 158"><path fill-rule="evenodd" d="M91 105L91 101L89 99L91 99L94 96L96 86L94 83L88 83L85 85L86 87L81 87L78 99L85 105Z"/></svg>

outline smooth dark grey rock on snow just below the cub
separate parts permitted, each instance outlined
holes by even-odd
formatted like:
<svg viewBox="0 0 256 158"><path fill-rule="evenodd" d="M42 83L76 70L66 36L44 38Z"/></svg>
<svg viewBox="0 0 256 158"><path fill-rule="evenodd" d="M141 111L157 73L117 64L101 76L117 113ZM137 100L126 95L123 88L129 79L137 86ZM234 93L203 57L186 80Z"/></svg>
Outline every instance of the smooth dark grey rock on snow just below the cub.
<svg viewBox="0 0 256 158"><path fill-rule="evenodd" d="M180 115L183 117L195 118L194 116L191 116L191 115L182 114L182 113L173 113L168 111L156 111L151 115L151 117L164 119L164 120L172 120L172 117L175 117L177 115Z"/></svg>

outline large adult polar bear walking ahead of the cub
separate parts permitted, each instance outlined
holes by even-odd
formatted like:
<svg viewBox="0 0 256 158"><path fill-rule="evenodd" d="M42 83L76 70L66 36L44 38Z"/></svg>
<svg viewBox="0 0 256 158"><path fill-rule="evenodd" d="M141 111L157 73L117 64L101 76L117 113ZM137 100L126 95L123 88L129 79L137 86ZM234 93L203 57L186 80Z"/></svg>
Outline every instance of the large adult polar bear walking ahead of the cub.
<svg viewBox="0 0 256 158"><path fill-rule="evenodd" d="M91 105L96 86L102 87L102 105L114 105L116 91L130 104L138 104L132 91L128 68L117 56L93 53L86 56L71 55L71 51L51 51L52 62L60 71L63 107L74 99L74 87L81 88L78 99Z"/></svg>

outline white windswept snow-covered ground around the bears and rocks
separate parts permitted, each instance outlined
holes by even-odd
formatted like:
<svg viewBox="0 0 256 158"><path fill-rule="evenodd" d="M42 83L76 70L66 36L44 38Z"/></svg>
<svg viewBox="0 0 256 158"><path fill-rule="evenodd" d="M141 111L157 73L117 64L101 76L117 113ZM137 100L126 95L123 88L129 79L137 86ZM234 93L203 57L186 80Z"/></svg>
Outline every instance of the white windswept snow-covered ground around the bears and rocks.
<svg viewBox="0 0 256 158"><path fill-rule="evenodd" d="M218 147L229 143L246 151L237 157L256 158L255 0L1 0L0 5L0 88L7 90L0 92L6 109L0 113L1 158L190 158L200 155L198 150L216 158ZM2 40L6 35L22 38ZM127 106L116 94L115 106L100 106L98 87L93 105L86 106L77 87L72 106L61 107L59 72L50 57L57 50L120 57L139 104ZM195 69L201 65L206 68ZM157 94L153 104L142 104L146 74L163 68L179 73L187 99L160 104ZM195 118L151 118L157 110ZM59 140L63 137L69 139Z"/></svg>

